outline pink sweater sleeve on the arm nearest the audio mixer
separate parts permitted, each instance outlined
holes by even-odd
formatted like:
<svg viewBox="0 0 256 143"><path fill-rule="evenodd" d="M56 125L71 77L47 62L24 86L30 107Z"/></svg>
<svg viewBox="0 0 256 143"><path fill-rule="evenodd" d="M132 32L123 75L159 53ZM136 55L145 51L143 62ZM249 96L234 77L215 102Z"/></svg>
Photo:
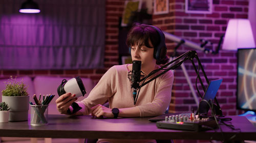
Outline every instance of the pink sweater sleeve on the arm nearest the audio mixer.
<svg viewBox="0 0 256 143"><path fill-rule="evenodd" d="M140 117L153 117L164 113L172 97L173 81L174 75L172 71L160 76L153 101L137 106L140 110Z"/></svg>

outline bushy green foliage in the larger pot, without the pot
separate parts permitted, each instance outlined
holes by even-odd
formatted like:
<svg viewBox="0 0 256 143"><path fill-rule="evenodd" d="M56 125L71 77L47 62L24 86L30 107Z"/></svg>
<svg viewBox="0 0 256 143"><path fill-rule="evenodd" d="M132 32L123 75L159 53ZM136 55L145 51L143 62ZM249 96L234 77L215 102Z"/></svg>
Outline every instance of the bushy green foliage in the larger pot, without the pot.
<svg viewBox="0 0 256 143"><path fill-rule="evenodd" d="M4 82L5 90L2 91L3 96L28 96L27 86L23 81L16 81L16 77L8 79Z"/></svg>

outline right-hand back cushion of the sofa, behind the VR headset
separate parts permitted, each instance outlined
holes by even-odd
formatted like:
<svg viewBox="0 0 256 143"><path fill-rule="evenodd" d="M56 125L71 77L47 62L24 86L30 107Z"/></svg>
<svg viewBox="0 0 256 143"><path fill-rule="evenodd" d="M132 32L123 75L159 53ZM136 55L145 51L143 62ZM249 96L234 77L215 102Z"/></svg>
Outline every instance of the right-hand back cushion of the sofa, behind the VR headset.
<svg viewBox="0 0 256 143"><path fill-rule="evenodd" d="M55 94L55 97L49 104L48 113L49 114L59 114L59 112L56 109L55 100L59 97L57 93L57 88L61 84L61 81L63 79L71 79L72 77L51 77L51 76L36 76L34 78L34 88L35 88L35 94L37 97L39 97L39 94L41 95L47 95L47 94ZM86 88L87 94L84 95L84 97L79 97L78 101L83 100L86 98L91 90L94 87L93 81L90 78L81 78L82 82L84 84L84 88Z"/></svg>

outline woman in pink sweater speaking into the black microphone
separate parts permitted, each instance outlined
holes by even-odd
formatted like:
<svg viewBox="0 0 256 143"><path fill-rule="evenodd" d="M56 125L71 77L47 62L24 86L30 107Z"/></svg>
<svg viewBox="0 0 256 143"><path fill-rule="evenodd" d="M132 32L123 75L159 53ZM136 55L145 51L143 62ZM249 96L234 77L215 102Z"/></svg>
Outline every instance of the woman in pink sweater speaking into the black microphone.
<svg viewBox="0 0 256 143"><path fill-rule="evenodd" d="M162 31L152 25L135 25L127 35L127 46L131 48L133 61L141 61L142 75L160 68L159 64L168 61L166 46ZM164 113L170 103L174 76L172 71L159 76L144 85L134 105L131 81L127 77L132 70L132 64L111 67L99 80L90 95L77 102L80 110L74 111L71 106L77 99L72 93L61 95L56 100L60 113L68 115L91 115L97 118L132 118L153 117ZM148 77L149 80L155 75ZM141 84L141 83L140 83ZM109 108L102 104L109 102ZM105 140L106 141L106 140ZM123 142L123 141L122 141Z"/></svg>

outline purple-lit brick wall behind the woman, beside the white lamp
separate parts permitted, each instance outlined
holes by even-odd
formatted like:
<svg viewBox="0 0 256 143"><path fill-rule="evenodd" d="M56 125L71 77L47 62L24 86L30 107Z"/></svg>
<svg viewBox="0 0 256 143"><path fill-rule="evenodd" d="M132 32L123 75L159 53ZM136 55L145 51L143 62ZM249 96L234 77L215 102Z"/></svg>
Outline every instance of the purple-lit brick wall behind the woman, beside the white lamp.
<svg viewBox="0 0 256 143"><path fill-rule="evenodd" d="M248 1L213 1L212 14L187 14L185 13L185 0L169 0L169 13L154 15L153 23L163 31L175 34L183 39L200 44L200 39L213 43L217 47L220 36L225 34L230 18L247 18ZM172 52L176 43L167 40L168 52ZM207 47L211 47L208 45ZM195 50L181 46L177 50L183 53ZM224 115L236 115L236 86L237 86L237 54L234 51L220 50L219 54L205 54L196 50L199 59L209 79L223 78L217 94L218 101ZM194 84L196 74L190 62L185 62L185 67ZM203 77L203 76L201 76ZM205 80L204 80L205 81ZM199 85L200 83L198 83ZM205 84L207 85L207 84ZM199 98L200 99L200 98ZM173 88L170 111L187 111L196 107L193 96L181 69L175 70L175 83Z"/></svg>

